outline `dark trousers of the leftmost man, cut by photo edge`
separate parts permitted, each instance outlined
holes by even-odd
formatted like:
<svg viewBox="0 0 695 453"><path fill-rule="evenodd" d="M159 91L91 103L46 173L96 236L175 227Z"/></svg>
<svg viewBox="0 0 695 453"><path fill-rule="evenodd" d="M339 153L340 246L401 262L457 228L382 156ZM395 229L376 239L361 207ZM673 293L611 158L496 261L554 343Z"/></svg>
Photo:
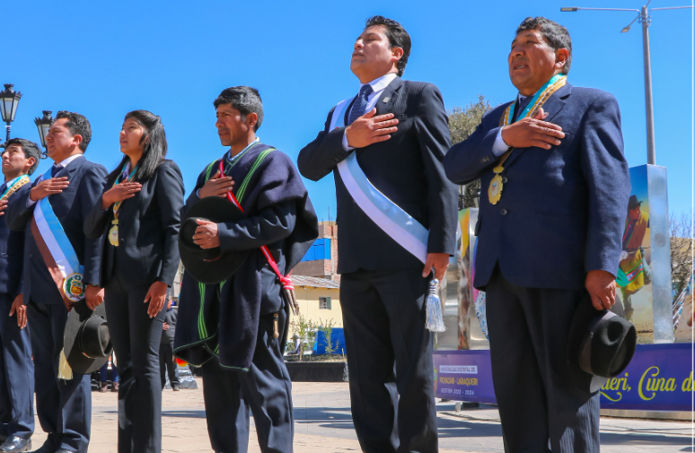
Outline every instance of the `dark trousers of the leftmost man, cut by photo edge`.
<svg viewBox="0 0 695 453"><path fill-rule="evenodd" d="M34 362L29 326L10 318L13 299L0 294L0 405L6 436L29 439L34 432Z"/></svg>

